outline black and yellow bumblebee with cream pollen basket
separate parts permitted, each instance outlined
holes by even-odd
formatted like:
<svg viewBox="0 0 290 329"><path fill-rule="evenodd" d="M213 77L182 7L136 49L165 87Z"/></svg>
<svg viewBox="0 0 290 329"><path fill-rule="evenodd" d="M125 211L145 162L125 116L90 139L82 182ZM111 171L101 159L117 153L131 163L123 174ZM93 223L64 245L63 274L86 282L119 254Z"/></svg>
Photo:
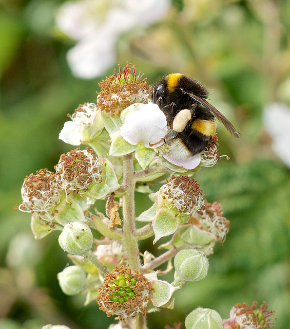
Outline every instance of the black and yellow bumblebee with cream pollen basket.
<svg viewBox="0 0 290 329"><path fill-rule="evenodd" d="M207 102L208 90L199 81L172 73L154 83L151 93L152 102L166 116L170 130L164 139L172 156L182 159L200 153L216 133L216 119L239 137L233 124Z"/></svg>

